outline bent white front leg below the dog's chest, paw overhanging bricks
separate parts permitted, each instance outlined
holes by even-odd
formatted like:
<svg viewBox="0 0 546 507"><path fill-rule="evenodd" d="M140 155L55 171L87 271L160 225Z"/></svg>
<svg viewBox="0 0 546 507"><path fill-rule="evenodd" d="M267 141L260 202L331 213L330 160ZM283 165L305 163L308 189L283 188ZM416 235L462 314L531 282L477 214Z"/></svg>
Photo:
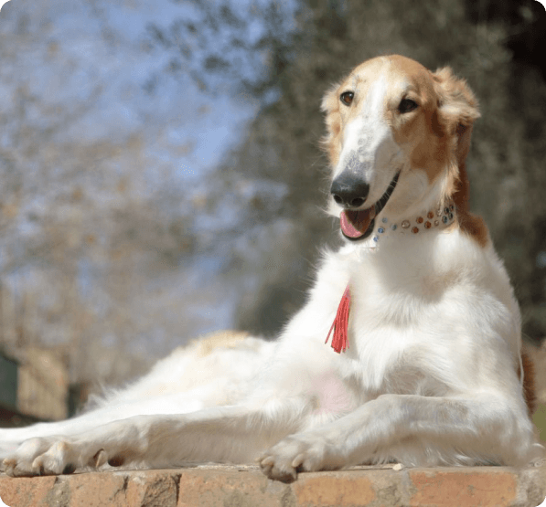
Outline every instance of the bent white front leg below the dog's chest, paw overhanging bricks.
<svg viewBox="0 0 546 507"><path fill-rule="evenodd" d="M397 460L408 466L498 463L543 457L523 404L505 396L383 395L324 426L296 433L259 459L272 479Z"/></svg>

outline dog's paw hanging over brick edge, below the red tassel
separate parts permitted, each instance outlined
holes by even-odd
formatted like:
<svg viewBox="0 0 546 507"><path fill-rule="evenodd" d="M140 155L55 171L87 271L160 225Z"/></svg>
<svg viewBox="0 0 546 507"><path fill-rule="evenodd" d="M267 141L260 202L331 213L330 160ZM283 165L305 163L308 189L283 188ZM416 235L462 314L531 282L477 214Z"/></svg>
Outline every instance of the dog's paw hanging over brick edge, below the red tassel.
<svg viewBox="0 0 546 507"><path fill-rule="evenodd" d="M295 481L299 471L337 470L343 466L336 446L306 433L284 438L257 460L267 477L284 482Z"/></svg>

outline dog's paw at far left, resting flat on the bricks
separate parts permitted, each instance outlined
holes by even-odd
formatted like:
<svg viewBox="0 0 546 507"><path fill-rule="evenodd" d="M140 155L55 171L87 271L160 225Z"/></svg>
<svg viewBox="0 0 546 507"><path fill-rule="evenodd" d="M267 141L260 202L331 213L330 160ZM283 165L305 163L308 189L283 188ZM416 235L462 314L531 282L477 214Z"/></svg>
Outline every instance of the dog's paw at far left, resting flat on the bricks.
<svg viewBox="0 0 546 507"><path fill-rule="evenodd" d="M96 470L109 461L112 466L123 464L123 459L108 455L101 446L78 439L31 438L16 452L4 459L5 473L12 477L60 475L75 470Z"/></svg>

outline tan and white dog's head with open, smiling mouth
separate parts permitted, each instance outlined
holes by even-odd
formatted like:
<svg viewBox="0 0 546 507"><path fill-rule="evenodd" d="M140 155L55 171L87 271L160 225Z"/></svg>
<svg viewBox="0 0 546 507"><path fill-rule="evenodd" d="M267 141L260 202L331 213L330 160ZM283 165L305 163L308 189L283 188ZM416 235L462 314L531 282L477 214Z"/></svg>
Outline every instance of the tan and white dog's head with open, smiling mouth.
<svg viewBox="0 0 546 507"><path fill-rule="evenodd" d="M451 69L433 73L410 58L372 58L329 90L322 107L330 211L341 216L347 238L367 238L384 208L404 217L452 198L466 212L465 159L479 113Z"/></svg>

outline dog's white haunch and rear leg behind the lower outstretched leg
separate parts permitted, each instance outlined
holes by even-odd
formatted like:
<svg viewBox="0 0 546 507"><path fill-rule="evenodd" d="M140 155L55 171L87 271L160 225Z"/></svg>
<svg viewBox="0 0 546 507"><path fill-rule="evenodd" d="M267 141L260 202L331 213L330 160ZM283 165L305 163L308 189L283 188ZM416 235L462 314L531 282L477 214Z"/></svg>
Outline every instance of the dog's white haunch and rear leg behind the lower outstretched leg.
<svg viewBox="0 0 546 507"><path fill-rule="evenodd" d="M221 338L224 343L224 334L212 338ZM27 428L0 428L0 470L3 459L30 438L42 438L42 442L60 436L71 438L127 417L187 414L236 404L245 388L252 385L251 379L260 371L262 362L272 354L274 345L252 337L231 343L230 347L220 346L214 340L209 338L177 349L148 375L123 390L99 397L95 407L80 416Z"/></svg>

